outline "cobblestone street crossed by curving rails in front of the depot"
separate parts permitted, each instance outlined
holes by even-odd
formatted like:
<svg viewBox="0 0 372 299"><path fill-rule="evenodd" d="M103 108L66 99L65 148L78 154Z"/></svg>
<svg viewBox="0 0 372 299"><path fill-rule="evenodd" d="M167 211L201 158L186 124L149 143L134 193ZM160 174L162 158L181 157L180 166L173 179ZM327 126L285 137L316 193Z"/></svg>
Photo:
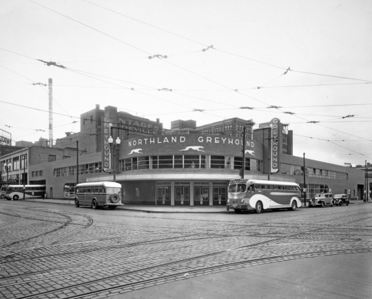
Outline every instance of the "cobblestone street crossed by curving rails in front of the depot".
<svg viewBox="0 0 372 299"><path fill-rule="evenodd" d="M107 298L260 264L372 252L372 204L236 214L1 200L0 227L1 298Z"/></svg>

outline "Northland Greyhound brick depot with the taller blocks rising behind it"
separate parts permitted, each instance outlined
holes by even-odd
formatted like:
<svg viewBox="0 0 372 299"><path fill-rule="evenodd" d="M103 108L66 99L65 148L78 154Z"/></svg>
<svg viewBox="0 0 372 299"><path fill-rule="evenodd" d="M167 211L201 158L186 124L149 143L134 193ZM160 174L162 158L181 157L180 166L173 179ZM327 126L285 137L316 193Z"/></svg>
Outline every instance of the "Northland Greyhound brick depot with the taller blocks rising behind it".
<svg viewBox="0 0 372 299"><path fill-rule="evenodd" d="M113 181L115 171L124 204L225 205L229 180L240 178L243 145L245 179L269 177L303 187L305 173L307 197L331 191L362 199L364 192L364 171L309 159L304 168L303 157L293 156L292 131L278 118L255 130L252 119L238 117L199 127L194 120L178 119L171 130L163 130L159 119L99 105L81 118L81 132L66 134L54 146L71 150L68 158L29 167L29 173L41 171L47 197L70 196L77 175L79 182ZM114 144L121 140L115 150L108 143L110 135Z"/></svg>

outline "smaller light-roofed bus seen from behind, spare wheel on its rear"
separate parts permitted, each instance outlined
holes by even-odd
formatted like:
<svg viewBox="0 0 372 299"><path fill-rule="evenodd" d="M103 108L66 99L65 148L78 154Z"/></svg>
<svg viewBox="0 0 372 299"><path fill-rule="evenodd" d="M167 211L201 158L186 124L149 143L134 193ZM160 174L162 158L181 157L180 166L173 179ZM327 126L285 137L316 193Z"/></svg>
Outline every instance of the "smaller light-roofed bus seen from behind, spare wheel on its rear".
<svg viewBox="0 0 372 299"><path fill-rule="evenodd" d="M107 206L110 210L123 206L121 202L121 184L115 182L92 182L76 185L75 206L92 206L99 209Z"/></svg>

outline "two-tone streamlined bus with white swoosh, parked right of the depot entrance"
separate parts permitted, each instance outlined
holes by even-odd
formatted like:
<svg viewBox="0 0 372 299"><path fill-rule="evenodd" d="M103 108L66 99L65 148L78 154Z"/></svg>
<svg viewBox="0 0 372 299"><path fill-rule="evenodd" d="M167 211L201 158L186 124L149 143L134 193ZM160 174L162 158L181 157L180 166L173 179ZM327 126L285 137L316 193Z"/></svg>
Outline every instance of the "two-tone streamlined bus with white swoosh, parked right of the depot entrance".
<svg viewBox="0 0 372 299"><path fill-rule="evenodd" d="M255 211L267 209L295 211L301 206L300 186L291 182L266 180L231 180L229 182L227 211Z"/></svg>

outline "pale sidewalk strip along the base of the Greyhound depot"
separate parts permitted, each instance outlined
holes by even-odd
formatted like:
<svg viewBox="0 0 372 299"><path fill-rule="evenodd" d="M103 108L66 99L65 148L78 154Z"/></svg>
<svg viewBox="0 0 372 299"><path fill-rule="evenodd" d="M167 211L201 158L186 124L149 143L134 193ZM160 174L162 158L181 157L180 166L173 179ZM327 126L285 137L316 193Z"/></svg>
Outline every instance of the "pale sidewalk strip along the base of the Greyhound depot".
<svg viewBox="0 0 372 299"><path fill-rule="evenodd" d="M1 200L6 200L1 198ZM21 201L21 200L20 200ZM54 200L41 198L29 199L28 202L48 202L50 204L70 204L74 205L74 200ZM371 204L372 202L363 202L363 200L351 200L350 204ZM299 209L306 209L309 206L302 206ZM138 211L145 213L234 213L234 210L226 211L226 206L149 206L144 204L124 204L117 209L126 211Z"/></svg>

